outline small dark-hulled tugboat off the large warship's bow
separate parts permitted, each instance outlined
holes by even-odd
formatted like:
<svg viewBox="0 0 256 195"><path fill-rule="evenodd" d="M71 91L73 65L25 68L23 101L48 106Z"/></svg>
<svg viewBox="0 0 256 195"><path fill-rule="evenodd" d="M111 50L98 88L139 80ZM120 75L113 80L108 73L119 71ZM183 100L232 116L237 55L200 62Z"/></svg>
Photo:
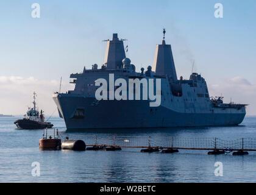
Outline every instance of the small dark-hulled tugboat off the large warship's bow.
<svg viewBox="0 0 256 195"><path fill-rule="evenodd" d="M44 122L43 110L39 112L38 108L35 106L36 95L37 94L34 92L34 107L27 110L27 113L24 115L23 119L19 119L14 122L18 129L51 129L53 127L51 122Z"/></svg>

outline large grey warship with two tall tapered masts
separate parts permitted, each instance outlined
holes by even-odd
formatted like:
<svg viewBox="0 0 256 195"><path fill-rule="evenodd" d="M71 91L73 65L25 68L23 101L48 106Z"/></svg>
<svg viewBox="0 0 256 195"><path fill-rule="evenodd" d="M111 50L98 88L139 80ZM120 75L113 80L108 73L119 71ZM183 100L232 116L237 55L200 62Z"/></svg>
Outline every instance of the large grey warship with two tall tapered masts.
<svg viewBox="0 0 256 195"><path fill-rule="evenodd" d="M177 79L170 44L157 44L152 66L141 72L126 58L124 40L113 34L107 40L104 64L93 65L82 73L71 74L74 90L55 93L53 99L68 130L126 129L199 126L238 126L246 116L246 104L225 104L222 97L211 98L201 74L192 73L190 79ZM96 80L117 79L161 80L160 106L151 107L150 99L127 101L96 98ZM117 90L115 87L114 90ZM108 92L110 88L107 89ZM129 91L127 91L129 93Z"/></svg>

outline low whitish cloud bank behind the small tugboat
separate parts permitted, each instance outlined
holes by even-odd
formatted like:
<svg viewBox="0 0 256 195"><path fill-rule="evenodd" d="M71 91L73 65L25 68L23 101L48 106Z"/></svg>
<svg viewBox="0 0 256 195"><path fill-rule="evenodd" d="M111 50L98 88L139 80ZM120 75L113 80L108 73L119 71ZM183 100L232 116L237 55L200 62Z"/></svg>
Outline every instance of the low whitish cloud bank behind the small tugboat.
<svg viewBox="0 0 256 195"><path fill-rule="evenodd" d="M52 100L54 91L59 91L58 80L40 80L35 77L0 76L0 113L23 115L32 104L34 91L37 93L37 103L46 115L55 110ZM68 83L62 83L63 91L70 90ZM57 112L55 113L57 115Z"/></svg>

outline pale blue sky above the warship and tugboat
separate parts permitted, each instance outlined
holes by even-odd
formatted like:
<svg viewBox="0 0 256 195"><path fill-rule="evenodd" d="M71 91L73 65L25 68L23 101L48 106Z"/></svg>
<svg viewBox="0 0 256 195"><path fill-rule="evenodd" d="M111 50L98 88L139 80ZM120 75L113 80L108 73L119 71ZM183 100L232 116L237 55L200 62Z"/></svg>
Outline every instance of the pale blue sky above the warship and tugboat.
<svg viewBox="0 0 256 195"><path fill-rule="evenodd" d="M40 4L40 19L30 16L34 2ZM222 19L214 16L217 2L224 6ZM231 97L236 102L247 101L252 104L249 113L256 115L256 100L252 101L256 98L252 93L256 90L256 1L252 0L1 1L0 82L5 78L1 85L8 98L1 99L0 113L8 112L12 95L26 97L24 104L29 104L33 90L41 91L49 101L42 100L41 105L51 112L51 93L57 90L60 76L68 82L69 74L82 71L84 65L101 64L102 40L113 33L129 40L128 57L137 69L151 65L163 27L166 41L172 44L178 76L188 78L195 60L195 69L207 80L212 95L222 93L226 101ZM45 87L32 83L15 94L8 91L9 77L45 82L49 94L38 89ZM15 89L17 82L12 82ZM22 110L12 108L13 113Z"/></svg>

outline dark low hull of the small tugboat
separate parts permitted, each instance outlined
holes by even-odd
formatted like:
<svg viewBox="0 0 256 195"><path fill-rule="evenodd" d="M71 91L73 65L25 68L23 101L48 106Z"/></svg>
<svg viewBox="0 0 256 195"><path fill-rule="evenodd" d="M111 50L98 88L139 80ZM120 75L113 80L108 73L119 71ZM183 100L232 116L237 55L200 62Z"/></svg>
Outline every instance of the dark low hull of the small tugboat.
<svg viewBox="0 0 256 195"><path fill-rule="evenodd" d="M51 129L53 124L51 122L38 122L28 119L20 119L14 122L19 129Z"/></svg>

